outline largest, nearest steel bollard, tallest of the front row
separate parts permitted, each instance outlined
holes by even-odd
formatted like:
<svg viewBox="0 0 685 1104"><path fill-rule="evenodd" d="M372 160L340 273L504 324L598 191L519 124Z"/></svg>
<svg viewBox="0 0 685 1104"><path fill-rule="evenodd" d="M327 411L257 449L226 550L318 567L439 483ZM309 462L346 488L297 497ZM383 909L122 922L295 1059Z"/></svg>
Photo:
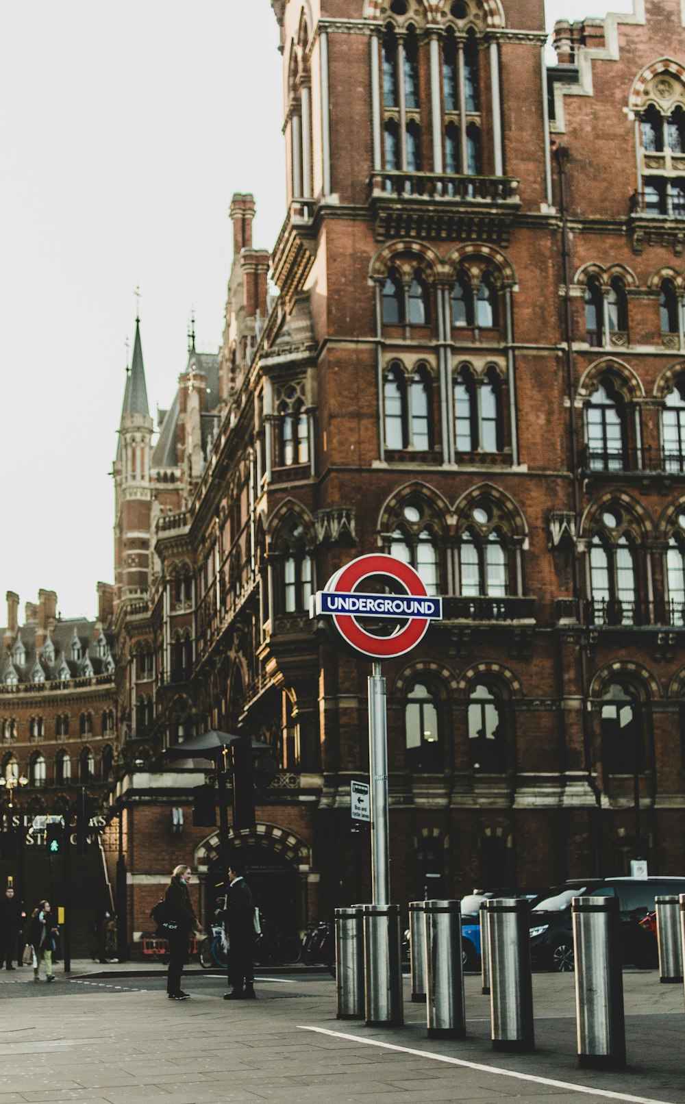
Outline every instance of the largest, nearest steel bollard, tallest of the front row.
<svg viewBox="0 0 685 1104"><path fill-rule="evenodd" d="M571 900L576 952L578 1064L625 1066L625 1020L618 898Z"/></svg>

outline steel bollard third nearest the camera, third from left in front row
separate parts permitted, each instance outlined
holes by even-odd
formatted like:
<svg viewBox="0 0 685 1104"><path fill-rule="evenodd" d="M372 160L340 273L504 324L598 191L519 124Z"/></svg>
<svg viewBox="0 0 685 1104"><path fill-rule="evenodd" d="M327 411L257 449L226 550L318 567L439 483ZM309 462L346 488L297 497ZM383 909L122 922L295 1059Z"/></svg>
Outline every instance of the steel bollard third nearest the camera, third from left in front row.
<svg viewBox="0 0 685 1104"><path fill-rule="evenodd" d="M426 901L425 1012L431 1039L466 1034L462 915L459 901Z"/></svg>

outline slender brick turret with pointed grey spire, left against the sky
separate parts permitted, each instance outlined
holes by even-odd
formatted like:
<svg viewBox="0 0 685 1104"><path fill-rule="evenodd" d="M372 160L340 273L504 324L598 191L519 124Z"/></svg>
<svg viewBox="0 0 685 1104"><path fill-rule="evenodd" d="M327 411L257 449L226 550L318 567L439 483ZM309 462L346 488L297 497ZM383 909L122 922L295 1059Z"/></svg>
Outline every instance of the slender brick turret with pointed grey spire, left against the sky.
<svg viewBox="0 0 685 1104"><path fill-rule="evenodd" d="M147 402L140 319L119 423L114 461L116 603L147 596L150 556L150 443L152 418Z"/></svg>

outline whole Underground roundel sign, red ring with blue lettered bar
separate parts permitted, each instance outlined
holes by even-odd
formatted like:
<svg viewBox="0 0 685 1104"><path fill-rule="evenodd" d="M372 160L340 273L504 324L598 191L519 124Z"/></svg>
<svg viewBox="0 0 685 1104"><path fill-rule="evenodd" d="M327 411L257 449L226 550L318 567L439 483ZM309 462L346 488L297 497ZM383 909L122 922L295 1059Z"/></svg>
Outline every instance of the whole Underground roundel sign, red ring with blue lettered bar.
<svg viewBox="0 0 685 1104"><path fill-rule="evenodd" d="M388 578L403 594L368 594L358 590L369 576ZM340 567L313 597L312 616L328 615L348 644L370 659L392 659L411 651L429 627L442 617L442 598L430 597L417 571L383 553L361 555ZM375 636L360 622L366 617L401 620L392 636Z"/></svg>

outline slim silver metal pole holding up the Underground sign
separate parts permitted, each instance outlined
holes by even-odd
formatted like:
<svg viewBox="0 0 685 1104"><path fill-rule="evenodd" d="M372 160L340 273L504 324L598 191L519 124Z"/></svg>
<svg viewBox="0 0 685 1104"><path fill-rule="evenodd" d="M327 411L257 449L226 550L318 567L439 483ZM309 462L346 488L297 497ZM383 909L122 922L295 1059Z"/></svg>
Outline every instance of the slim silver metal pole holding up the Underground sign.
<svg viewBox="0 0 685 1104"><path fill-rule="evenodd" d="M386 724L386 680L380 664L369 676L369 767L371 773L371 900L390 903L388 857L388 734Z"/></svg>

